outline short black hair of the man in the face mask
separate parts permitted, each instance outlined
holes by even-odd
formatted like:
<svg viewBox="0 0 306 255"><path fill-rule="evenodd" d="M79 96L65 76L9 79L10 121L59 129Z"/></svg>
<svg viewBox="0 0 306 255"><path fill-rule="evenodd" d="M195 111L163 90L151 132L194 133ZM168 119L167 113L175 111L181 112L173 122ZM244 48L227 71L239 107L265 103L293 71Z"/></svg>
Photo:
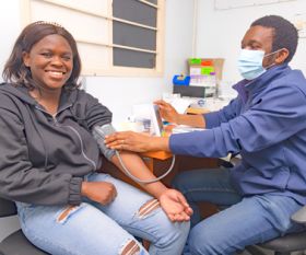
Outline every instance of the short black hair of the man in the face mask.
<svg viewBox="0 0 306 255"><path fill-rule="evenodd" d="M278 15L262 16L252 22L250 26L256 25L273 28L272 51L286 48L290 54L285 62L290 62L297 47L298 33L296 27L284 18Z"/></svg>

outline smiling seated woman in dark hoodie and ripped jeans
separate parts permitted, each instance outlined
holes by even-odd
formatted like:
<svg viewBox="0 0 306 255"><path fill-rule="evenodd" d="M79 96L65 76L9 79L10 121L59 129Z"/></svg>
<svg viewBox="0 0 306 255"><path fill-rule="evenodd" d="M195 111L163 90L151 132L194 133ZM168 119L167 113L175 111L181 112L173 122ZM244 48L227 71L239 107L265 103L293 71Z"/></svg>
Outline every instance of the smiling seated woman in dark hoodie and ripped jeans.
<svg viewBox="0 0 306 255"><path fill-rule="evenodd" d="M26 237L54 255L180 254L192 210L179 192L156 182L142 185L146 194L97 172L93 129L111 113L79 89L80 71L66 28L22 31L0 85L0 196L16 201ZM134 176L154 177L137 154L121 157ZM134 236L151 242L149 252Z"/></svg>

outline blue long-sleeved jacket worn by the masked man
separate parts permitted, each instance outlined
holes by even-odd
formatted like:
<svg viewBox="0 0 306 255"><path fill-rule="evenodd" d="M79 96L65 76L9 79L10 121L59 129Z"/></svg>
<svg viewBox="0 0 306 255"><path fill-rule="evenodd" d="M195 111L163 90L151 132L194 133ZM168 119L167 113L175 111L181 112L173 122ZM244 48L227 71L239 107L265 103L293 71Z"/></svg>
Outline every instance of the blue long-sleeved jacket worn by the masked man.
<svg viewBox="0 0 306 255"><path fill-rule="evenodd" d="M231 171L242 195L275 193L306 204L306 80L287 65L238 82L238 96L204 115L207 130L170 136L175 154L240 153Z"/></svg>

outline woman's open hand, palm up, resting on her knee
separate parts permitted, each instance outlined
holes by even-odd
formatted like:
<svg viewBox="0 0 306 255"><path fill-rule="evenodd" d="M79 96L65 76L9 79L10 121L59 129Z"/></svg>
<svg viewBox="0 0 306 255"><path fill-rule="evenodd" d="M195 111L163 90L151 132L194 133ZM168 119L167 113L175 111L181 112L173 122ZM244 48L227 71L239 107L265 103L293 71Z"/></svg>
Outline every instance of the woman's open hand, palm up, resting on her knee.
<svg viewBox="0 0 306 255"><path fill-rule="evenodd" d="M188 221L193 213L183 194L176 189L166 189L160 196L160 202L172 221Z"/></svg>

